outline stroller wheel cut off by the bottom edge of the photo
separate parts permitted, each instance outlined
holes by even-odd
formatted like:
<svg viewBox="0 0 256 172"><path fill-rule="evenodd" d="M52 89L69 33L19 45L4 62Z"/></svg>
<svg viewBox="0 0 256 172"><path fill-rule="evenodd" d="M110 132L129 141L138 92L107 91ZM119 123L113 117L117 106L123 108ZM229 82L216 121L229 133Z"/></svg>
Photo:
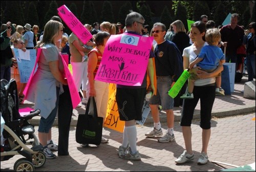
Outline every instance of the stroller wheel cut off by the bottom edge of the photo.
<svg viewBox="0 0 256 172"><path fill-rule="evenodd" d="M34 171L35 167L27 158L18 159L13 166L14 171Z"/></svg>

